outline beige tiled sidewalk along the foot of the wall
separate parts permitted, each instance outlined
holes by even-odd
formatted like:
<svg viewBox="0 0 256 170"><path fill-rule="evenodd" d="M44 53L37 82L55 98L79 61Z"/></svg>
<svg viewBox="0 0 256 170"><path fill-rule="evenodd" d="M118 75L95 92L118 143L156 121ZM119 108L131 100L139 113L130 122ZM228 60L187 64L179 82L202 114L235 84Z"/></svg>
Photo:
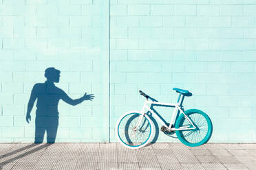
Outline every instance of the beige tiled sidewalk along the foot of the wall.
<svg viewBox="0 0 256 170"><path fill-rule="evenodd" d="M0 169L256 169L256 144L0 144Z"/></svg>

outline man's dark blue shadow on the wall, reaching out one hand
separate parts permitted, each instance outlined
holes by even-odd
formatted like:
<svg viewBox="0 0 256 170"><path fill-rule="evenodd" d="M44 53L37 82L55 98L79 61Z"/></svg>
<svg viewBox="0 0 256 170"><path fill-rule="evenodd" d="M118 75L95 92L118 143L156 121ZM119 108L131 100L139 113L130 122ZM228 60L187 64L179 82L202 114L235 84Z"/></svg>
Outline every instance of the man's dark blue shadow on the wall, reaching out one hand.
<svg viewBox="0 0 256 170"><path fill-rule="evenodd" d="M60 80L61 71L54 69L54 67L45 70L45 83L34 84L30 100L28 101L28 111L26 121L30 123L30 112L36 103L36 121L35 121L35 137L34 143L43 143L43 136L47 132L47 143L55 143L56 133L58 130L58 102L60 99L67 104L75 106L81 104L85 100L94 99L94 95L83 95L79 99L71 99L61 88L58 88L54 83Z"/></svg>

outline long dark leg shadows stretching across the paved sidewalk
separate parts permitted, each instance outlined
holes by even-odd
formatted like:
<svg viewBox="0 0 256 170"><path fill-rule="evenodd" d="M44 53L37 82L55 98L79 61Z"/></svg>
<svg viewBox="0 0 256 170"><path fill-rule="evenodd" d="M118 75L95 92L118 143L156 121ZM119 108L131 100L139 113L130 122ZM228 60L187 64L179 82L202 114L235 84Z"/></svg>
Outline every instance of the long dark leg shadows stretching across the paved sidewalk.
<svg viewBox="0 0 256 170"><path fill-rule="evenodd" d="M14 162L15 160L19 160L20 158L23 158L23 157L28 156L30 154L33 154L34 152L39 151L41 149L45 149L46 147L48 147L52 144L53 143L45 143L45 144L41 145L39 143L32 143L28 146L25 146L25 147L22 147L20 149L11 151L10 153L3 154L3 155L0 156L0 170L3 169L3 167L5 165L8 165L9 163ZM37 145L39 145L39 147L36 147ZM36 147L36 148L31 149L32 147ZM23 153L22 151L24 151L26 149L31 149L31 150ZM12 155L15 155L15 154L18 154L18 153L21 153L21 154L19 154L18 156L15 156L14 158L10 158L8 160L5 160L5 158L7 158L8 156L12 156ZM3 162L2 162L2 160L3 160Z"/></svg>

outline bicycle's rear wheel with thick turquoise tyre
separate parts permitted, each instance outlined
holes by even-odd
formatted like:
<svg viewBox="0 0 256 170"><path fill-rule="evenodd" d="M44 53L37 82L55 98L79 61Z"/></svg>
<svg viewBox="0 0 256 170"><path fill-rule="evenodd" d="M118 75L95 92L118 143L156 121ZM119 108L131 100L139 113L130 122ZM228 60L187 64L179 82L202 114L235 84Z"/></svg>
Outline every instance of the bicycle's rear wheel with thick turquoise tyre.
<svg viewBox="0 0 256 170"><path fill-rule="evenodd" d="M213 132L213 124L207 114L197 109L186 110L184 113L191 119L193 125L195 125L195 129L177 130L176 134L179 140L189 147L198 147L209 141ZM193 127L193 125L185 119L184 114L181 114L175 123L175 128L179 129L184 126Z"/></svg>

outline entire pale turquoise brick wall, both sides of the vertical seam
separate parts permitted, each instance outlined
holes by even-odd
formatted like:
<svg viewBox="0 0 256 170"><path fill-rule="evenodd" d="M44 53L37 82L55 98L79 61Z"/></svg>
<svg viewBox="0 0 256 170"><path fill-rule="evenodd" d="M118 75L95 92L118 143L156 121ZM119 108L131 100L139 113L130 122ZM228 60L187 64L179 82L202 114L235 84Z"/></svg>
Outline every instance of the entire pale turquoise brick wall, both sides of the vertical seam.
<svg viewBox="0 0 256 170"><path fill-rule="evenodd" d="M109 6L110 5L110 6ZM256 141L256 1L0 1L0 143L34 141L28 99L44 71L73 99L58 104L56 142L116 142L118 117L140 110L143 90L173 103L172 88L193 93L184 108L213 121L210 142ZM171 119L170 108L156 107ZM158 142L178 142L160 133Z"/></svg>

